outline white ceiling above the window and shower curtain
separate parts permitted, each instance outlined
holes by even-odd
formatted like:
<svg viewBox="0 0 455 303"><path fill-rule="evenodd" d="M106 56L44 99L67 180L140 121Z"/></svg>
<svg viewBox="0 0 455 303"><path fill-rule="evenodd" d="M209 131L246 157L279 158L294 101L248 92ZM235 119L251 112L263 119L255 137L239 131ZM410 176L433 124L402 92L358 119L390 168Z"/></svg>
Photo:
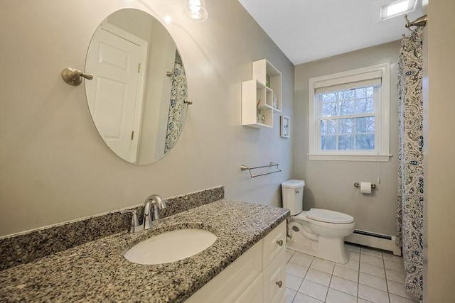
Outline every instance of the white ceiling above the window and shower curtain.
<svg viewBox="0 0 455 303"><path fill-rule="evenodd" d="M393 0L238 0L294 65L368 48L410 33L405 18L379 21ZM422 1L408 13L422 16Z"/></svg>

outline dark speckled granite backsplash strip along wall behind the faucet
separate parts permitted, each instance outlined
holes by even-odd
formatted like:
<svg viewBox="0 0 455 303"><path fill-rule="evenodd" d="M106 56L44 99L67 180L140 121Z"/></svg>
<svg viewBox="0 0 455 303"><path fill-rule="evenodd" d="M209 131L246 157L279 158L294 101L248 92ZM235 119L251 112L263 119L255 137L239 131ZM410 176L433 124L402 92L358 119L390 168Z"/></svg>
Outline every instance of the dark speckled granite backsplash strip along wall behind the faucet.
<svg viewBox="0 0 455 303"><path fill-rule="evenodd" d="M166 209L160 210L159 213L161 218L165 218L224 197L225 189L220 186L166 198ZM134 208L137 209L137 214L141 214L141 206ZM0 238L0 270L126 231L129 224L131 214L120 214L117 210Z"/></svg>

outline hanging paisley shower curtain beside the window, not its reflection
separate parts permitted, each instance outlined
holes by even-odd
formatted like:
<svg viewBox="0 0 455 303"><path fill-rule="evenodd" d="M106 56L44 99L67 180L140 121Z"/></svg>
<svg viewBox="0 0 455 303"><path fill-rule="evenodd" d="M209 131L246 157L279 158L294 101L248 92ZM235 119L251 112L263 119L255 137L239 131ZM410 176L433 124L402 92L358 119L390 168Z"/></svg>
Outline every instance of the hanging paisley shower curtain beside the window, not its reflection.
<svg viewBox="0 0 455 303"><path fill-rule="evenodd" d="M402 39L399 64L400 136L396 241L402 246L407 292L423 295L422 28Z"/></svg>

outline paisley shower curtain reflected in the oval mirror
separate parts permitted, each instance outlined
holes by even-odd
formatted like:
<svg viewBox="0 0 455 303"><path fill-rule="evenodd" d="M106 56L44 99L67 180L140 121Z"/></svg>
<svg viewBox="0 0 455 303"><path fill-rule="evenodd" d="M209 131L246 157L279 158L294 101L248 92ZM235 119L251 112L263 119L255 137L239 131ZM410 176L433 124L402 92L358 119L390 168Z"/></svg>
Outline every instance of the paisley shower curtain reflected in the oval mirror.
<svg viewBox="0 0 455 303"><path fill-rule="evenodd" d="M184 101L187 99L188 93L185 69L180 63L175 63L173 67L171 82L171 100L169 102L164 153L167 153L176 144L186 119L187 105Z"/></svg>

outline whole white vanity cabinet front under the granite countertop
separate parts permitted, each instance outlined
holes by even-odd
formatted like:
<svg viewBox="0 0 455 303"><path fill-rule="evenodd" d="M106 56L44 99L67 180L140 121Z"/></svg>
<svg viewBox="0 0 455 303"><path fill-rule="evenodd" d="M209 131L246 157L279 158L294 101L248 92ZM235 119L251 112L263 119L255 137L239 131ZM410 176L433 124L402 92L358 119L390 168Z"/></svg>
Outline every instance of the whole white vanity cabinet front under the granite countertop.
<svg viewBox="0 0 455 303"><path fill-rule="evenodd" d="M285 244L286 221L274 228L186 302L283 302L286 288Z"/></svg>

